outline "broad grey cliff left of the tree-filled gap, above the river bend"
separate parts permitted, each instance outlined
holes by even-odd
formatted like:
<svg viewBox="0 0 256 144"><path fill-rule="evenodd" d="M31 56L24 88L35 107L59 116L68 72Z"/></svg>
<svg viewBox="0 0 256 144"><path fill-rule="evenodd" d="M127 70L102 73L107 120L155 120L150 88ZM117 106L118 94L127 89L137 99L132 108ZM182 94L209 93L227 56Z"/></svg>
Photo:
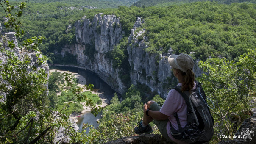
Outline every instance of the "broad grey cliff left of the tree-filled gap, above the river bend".
<svg viewBox="0 0 256 144"><path fill-rule="evenodd" d="M83 17L75 23L75 28L77 43L71 49L63 49L61 53L68 51L77 55L79 66L92 70L115 91L123 93L126 87L120 79L120 69L114 69L105 55L113 50L125 34L120 19L114 15L100 13L95 15L92 21L86 19L86 16ZM90 53L84 53L85 51Z"/></svg>

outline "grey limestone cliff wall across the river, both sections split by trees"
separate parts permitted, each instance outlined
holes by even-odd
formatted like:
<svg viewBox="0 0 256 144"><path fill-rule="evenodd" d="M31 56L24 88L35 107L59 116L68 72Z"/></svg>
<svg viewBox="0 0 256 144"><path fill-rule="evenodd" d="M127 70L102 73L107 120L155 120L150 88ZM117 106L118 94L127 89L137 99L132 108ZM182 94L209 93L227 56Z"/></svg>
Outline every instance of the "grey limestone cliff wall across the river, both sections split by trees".
<svg viewBox="0 0 256 144"><path fill-rule="evenodd" d="M131 34L128 38L128 55L131 66L130 78L132 84L146 84L152 91L157 91L162 97L167 97L168 86L172 83L174 76L170 71L170 65L167 62L168 56L172 53L152 54L147 53L147 38L144 36L145 29L136 31L144 22L137 18ZM62 55L68 52L77 55L77 61L80 66L97 73L106 83L115 91L123 93L125 85L119 78L120 69L113 69L112 62L106 58L106 53L113 50L125 34L122 31L120 19L114 15L97 14L93 20L86 19L86 16L75 23L76 41L74 46L68 46L62 49ZM195 73L200 75L202 72L195 61ZM175 80L174 83L177 83Z"/></svg>

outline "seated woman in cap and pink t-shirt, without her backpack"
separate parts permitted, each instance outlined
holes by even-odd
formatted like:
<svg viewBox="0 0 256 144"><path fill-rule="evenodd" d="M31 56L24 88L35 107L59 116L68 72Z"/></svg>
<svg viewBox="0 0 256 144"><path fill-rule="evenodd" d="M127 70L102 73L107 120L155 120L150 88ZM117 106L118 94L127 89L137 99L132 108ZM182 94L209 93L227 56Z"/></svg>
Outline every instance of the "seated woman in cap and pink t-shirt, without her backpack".
<svg viewBox="0 0 256 144"><path fill-rule="evenodd" d="M181 86L181 91L190 91L196 89L195 74L192 71L194 61L187 54L170 55L168 63L171 66L173 75L178 78L178 86ZM143 106L144 117L143 121L138 122L138 126L134 128L136 134L152 133L150 122L154 122L162 136L170 142L178 144L186 144L184 141L173 138L170 133L170 124L178 130L176 118L173 116L177 112L181 127L187 124L187 105L181 94L171 89L168 96L160 107L156 102L149 101Z"/></svg>

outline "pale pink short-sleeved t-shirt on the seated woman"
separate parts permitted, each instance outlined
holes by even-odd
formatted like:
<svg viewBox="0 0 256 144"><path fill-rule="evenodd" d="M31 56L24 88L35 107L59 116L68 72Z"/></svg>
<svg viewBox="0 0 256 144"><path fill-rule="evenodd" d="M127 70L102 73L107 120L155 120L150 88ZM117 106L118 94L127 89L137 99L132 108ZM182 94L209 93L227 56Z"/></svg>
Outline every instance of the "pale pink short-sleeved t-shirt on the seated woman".
<svg viewBox="0 0 256 144"><path fill-rule="evenodd" d="M182 86L182 83L179 83L177 86ZM196 83L194 82L193 89L196 89ZM186 101L181 96L181 94L176 91L175 89L171 89L168 93L168 96L163 104L163 106L160 109L160 112L169 116L169 121L167 122L167 133L168 136L172 141L174 141L177 144L187 144L184 141L178 140L173 138L173 136L170 134L170 123L172 124L173 128L178 130L178 124L176 121L176 118L173 116L175 112L177 112L179 120L181 122L181 127L184 127L187 124L187 106Z"/></svg>

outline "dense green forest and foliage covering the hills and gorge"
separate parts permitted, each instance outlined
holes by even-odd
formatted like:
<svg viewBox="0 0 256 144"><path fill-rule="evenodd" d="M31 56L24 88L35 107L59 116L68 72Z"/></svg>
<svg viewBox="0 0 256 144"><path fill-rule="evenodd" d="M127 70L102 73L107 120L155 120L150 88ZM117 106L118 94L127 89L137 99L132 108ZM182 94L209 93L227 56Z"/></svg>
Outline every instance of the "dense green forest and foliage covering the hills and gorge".
<svg viewBox="0 0 256 144"><path fill-rule="evenodd" d="M203 74L197 80L204 83L206 94L217 106L212 111L215 135L211 143L215 144L227 140L219 138L220 134L234 135L243 120L250 116L253 107L250 102L256 91L256 4L254 0L232 3L231 0L195 1L29 0L26 4L11 5L0 1L7 7L0 9L0 22L9 26L3 28L3 32L16 31L22 35L19 30L24 30L24 36L17 36L19 47L25 46L28 51L46 55L47 58L39 58L39 65L45 60L49 64L75 64L70 63L76 59L73 55L67 54L64 58L55 55L55 51L60 52L63 47L75 44L75 22L83 16L93 19L98 13L114 14L120 17L125 35L109 53L109 58L115 67L125 69L127 38L136 17L141 17L144 23L137 31L145 28L146 32L138 39L146 37L147 53L167 53L171 48L175 54L188 53L194 59L202 60L200 68L208 75ZM6 22L9 12L12 13L9 15L13 18L12 23ZM15 23L16 19L20 22ZM14 49L11 42L8 47ZM9 58L0 66L0 91L6 92L7 97L5 103L0 102L0 141L3 143L51 143L61 127L69 130L70 142L97 144L112 141L134 135L133 128L142 119L143 103L148 100L159 105L164 103L145 84L131 85L122 94L122 102L115 94L111 104L103 109L103 118L97 129L85 124L83 130L75 131L64 114L81 111L77 102L87 102L92 113L97 114L99 109L95 108L95 103L100 100L77 87L72 75L53 72L47 81L43 69L39 73L26 74L31 69L36 70L36 67L29 66L27 57L23 61L5 50L2 44L0 48L1 53L6 53ZM121 62L115 62L116 59ZM48 94L45 83L49 84ZM7 85L13 89L7 89ZM56 92L66 86L70 91L57 96ZM1 94L0 97L3 98ZM69 108L66 108L66 103ZM59 118L53 110L61 112L57 114ZM87 127L90 127L88 134ZM156 127L153 133L159 133Z"/></svg>

